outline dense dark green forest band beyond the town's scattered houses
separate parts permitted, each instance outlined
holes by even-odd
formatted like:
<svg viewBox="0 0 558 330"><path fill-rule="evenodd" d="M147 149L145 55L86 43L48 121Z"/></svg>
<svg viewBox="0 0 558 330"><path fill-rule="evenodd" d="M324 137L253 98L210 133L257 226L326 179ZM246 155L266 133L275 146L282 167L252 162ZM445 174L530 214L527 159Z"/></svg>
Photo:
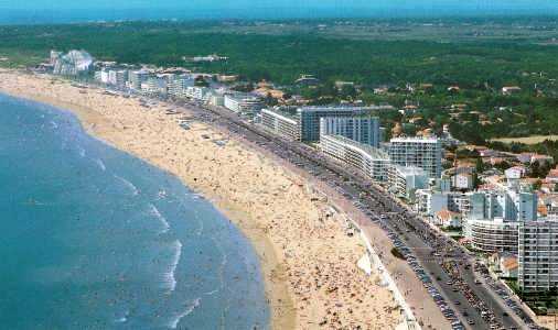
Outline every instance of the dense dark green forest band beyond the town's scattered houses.
<svg viewBox="0 0 558 330"><path fill-rule="evenodd" d="M185 65L183 56L217 53L229 61L198 68L279 84L313 74L323 81L371 86L415 81L475 88L485 81L521 85L524 72L558 73L557 47L505 41L355 41L203 31L203 25L170 22L4 26L0 28L0 53L36 56L51 48L85 48L100 59L157 65Z"/></svg>

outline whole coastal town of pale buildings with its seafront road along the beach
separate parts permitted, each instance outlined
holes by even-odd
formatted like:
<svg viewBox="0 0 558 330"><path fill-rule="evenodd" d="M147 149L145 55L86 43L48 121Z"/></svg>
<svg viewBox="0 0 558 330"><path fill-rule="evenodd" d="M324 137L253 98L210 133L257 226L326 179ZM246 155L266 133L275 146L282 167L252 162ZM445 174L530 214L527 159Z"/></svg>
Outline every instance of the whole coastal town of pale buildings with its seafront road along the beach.
<svg viewBox="0 0 558 330"><path fill-rule="evenodd" d="M189 61L225 59L213 54ZM391 257L412 268L453 329L535 329L538 316L556 308L558 167L550 155L468 144L453 138L448 124L441 132L425 129L409 135L405 122L383 119L400 113L407 122L420 120L414 118L412 106L360 100L310 105L271 81L246 88L233 75L99 62L85 51L52 51L33 70L71 79L78 88L96 86L107 95L139 98L146 108L152 100L187 101L228 113L240 127L304 154L293 165L322 180L329 179L322 167L340 167L334 173L341 174L341 183L333 189L388 234L395 246ZM316 80L304 74L293 84L312 86ZM351 81L336 84L340 90L351 87ZM518 90L505 86L501 94ZM182 130L192 125L181 120ZM309 161L312 165L303 164ZM378 201L393 204L390 211L397 215L372 211L369 202ZM358 231L358 224L348 223L346 234ZM417 244L429 246L428 253ZM427 264L431 261L441 271ZM483 301L481 289L494 304ZM409 329L425 326L416 316L407 317Z"/></svg>

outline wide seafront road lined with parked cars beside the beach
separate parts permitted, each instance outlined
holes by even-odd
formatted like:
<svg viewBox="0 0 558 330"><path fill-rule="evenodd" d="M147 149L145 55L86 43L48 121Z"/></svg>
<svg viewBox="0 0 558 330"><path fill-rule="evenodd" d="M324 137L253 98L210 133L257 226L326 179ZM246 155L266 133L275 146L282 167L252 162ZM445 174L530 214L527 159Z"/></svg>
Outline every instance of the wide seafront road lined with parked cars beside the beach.
<svg viewBox="0 0 558 330"><path fill-rule="evenodd" d="M287 141L256 124L247 123L226 109L184 101L176 105L194 113L196 120L225 128L226 131L240 135L325 182L345 198L358 202L360 208L371 216L371 221L382 218L385 229L397 233L397 238L410 250L411 255L432 279L432 286L455 311L457 318L465 328L529 328L529 324L519 318L504 316L509 314L509 309L490 286L474 283L472 255L464 253L457 242L434 231L422 219L409 212L356 169L347 168L311 146ZM443 265L450 268L444 268ZM459 274L459 277L452 276L453 273Z"/></svg>

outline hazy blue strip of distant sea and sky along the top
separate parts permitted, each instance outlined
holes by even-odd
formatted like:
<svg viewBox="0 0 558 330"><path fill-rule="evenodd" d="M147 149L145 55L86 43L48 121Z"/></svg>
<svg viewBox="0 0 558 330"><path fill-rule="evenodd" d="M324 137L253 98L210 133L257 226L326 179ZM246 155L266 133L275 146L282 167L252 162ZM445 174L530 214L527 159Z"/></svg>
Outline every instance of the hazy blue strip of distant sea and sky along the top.
<svg viewBox="0 0 558 330"><path fill-rule="evenodd" d="M558 15L556 0L0 0L0 23L142 19L318 19Z"/></svg>

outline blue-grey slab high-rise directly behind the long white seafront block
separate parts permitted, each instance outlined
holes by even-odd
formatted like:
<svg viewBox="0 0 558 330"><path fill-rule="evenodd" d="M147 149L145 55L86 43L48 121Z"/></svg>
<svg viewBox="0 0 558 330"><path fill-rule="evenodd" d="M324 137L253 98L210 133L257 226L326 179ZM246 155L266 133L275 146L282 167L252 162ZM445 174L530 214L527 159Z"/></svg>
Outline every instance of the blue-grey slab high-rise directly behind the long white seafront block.
<svg viewBox="0 0 558 330"><path fill-rule="evenodd" d="M379 147L379 120L372 116L323 117L320 119L320 140L322 135L341 135Z"/></svg>

